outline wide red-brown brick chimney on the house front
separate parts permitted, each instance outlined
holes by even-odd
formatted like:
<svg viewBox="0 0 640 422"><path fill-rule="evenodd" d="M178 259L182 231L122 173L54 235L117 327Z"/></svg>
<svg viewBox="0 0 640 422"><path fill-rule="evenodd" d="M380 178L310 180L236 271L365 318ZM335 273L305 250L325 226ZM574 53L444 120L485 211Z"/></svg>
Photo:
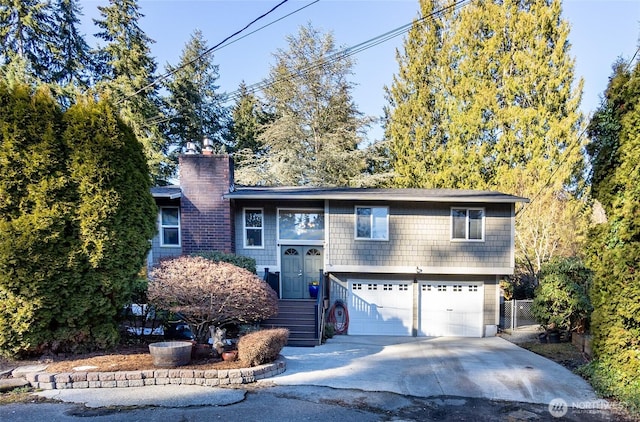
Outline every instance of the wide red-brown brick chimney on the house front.
<svg viewBox="0 0 640 422"><path fill-rule="evenodd" d="M222 195L233 184L233 159L227 154L187 153L179 159L182 253L235 252L233 210Z"/></svg>

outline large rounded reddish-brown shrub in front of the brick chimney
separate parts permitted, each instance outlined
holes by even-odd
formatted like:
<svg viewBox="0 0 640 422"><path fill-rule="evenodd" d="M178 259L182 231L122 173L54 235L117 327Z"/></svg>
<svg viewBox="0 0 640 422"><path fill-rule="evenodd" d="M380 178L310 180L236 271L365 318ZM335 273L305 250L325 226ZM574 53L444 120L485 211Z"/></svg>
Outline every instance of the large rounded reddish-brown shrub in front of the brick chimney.
<svg viewBox="0 0 640 422"><path fill-rule="evenodd" d="M278 313L278 296L260 277L199 256L160 262L147 296L155 307L180 314L201 342L211 325L254 323Z"/></svg>

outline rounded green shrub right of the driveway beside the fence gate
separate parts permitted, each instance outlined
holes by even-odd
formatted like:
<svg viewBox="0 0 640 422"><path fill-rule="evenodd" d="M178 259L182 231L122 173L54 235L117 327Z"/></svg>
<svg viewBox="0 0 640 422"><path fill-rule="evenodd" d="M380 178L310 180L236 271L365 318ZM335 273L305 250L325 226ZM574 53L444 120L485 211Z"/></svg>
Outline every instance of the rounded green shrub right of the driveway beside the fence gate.
<svg viewBox="0 0 640 422"><path fill-rule="evenodd" d="M591 271L577 258L556 258L542 267L531 313L544 326L572 329L591 314Z"/></svg>

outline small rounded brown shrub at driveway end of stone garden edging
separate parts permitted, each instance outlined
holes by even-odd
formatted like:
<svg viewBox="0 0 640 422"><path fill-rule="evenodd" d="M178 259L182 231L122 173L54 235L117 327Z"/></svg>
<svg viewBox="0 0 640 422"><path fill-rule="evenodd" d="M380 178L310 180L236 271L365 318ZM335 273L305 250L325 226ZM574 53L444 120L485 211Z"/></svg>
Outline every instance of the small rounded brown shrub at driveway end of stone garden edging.
<svg viewBox="0 0 640 422"><path fill-rule="evenodd" d="M286 328L254 331L240 337L238 358L249 366L273 362L289 339Z"/></svg>

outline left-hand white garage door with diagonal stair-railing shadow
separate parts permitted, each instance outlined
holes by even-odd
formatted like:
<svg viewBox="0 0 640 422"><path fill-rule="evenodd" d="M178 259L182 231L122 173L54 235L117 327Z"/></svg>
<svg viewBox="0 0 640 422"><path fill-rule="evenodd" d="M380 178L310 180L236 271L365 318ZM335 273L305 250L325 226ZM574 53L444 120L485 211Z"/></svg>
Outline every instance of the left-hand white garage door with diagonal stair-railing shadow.
<svg viewBox="0 0 640 422"><path fill-rule="evenodd" d="M349 334L411 335L411 282L349 281Z"/></svg>

